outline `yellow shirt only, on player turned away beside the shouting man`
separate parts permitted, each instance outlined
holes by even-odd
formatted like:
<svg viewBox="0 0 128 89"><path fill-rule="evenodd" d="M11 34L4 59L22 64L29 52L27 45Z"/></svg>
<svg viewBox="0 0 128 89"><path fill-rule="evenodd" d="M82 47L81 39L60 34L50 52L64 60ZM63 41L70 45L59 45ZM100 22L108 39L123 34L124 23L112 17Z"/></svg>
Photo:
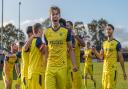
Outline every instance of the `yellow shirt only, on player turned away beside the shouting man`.
<svg viewBox="0 0 128 89"><path fill-rule="evenodd" d="M42 74L44 71L43 54L39 49L42 45L41 38L34 38L30 45L29 52L29 66L28 66L28 79L33 74Z"/></svg>

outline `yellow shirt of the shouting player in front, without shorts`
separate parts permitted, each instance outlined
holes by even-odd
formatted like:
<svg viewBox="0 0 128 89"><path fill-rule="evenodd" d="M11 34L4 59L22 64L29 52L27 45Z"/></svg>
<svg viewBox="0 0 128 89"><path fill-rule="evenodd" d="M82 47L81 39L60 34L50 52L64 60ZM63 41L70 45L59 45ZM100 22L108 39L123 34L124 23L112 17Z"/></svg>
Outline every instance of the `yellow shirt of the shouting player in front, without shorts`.
<svg viewBox="0 0 128 89"><path fill-rule="evenodd" d="M54 31L49 27L45 30L45 41L48 46L48 66L67 66L67 41L71 41L68 29L60 27Z"/></svg>

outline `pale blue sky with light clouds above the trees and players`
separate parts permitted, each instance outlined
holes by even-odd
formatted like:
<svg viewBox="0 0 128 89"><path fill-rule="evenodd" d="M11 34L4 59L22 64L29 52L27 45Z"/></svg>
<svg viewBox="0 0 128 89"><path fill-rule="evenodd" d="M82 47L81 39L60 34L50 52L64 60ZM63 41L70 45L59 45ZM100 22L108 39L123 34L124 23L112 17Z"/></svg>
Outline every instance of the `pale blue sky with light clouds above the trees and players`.
<svg viewBox="0 0 128 89"><path fill-rule="evenodd" d="M46 19L49 7L56 5L61 8L62 17L73 22L83 21L86 24L93 19L104 18L108 20L109 23L119 27L116 36L125 42L125 45L128 45L128 0L4 0L5 23L10 21L18 26L19 1L22 2L22 27L25 27L26 23ZM122 33L120 34L120 32Z"/></svg>

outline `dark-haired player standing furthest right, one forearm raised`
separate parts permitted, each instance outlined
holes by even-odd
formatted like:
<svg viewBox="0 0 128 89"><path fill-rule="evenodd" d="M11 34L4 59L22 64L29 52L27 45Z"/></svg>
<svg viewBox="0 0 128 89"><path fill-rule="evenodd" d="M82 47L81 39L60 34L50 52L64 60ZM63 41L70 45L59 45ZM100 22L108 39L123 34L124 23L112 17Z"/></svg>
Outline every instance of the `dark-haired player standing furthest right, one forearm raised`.
<svg viewBox="0 0 128 89"><path fill-rule="evenodd" d="M102 89L116 89L117 82L117 59L119 59L124 80L126 80L126 72L124 67L124 59L121 51L121 44L113 38L114 26L108 24L106 27L107 40L103 42L103 47L98 53L95 48L93 52L99 59L104 59Z"/></svg>

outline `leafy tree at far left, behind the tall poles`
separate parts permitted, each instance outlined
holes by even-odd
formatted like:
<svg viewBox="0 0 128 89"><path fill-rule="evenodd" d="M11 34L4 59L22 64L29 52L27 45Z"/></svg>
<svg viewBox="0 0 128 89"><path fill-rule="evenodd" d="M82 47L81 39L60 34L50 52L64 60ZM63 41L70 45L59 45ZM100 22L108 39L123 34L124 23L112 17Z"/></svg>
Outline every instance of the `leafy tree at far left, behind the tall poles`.
<svg viewBox="0 0 128 89"><path fill-rule="evenodd" d="M22 30L17 29L12 23L7 24L3 28L3 34L0 34L0 40L1 40L1 36L3 36L3 47L9 49L9 46L12 42L18 41L18 33L19 33L19 41L24 41L25 40L24 32Z"/></svg>

